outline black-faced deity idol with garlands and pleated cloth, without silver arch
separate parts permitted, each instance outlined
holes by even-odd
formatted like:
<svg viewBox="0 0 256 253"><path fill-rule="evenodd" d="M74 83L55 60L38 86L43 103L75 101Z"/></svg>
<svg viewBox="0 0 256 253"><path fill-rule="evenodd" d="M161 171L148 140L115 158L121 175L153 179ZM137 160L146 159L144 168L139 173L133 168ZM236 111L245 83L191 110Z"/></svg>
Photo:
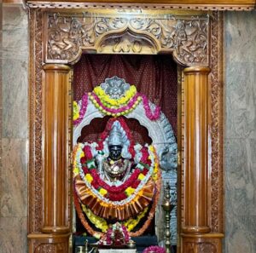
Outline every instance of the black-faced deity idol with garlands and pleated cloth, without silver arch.
<svg viewBox="0 0 256 253"><path fill-rule="evenodd" d="M131 235L146 230L160 193L158 158L153 146L134 143L124 118L110 118L97 143L75 147L73 172L76 208L89 233L106 233L117 221Z"/></svg>

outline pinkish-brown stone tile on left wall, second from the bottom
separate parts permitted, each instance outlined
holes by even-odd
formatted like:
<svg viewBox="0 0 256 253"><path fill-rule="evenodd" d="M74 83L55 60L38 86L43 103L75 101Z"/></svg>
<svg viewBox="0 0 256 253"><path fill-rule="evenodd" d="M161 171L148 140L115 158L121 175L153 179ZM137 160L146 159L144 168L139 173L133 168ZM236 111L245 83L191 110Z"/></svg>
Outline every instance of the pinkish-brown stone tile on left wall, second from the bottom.
<svg viewBox="0 0 256 253"><path fill-rule="evenodd" d="M0 216L27 216L27 141L2 140Z"/></svg>

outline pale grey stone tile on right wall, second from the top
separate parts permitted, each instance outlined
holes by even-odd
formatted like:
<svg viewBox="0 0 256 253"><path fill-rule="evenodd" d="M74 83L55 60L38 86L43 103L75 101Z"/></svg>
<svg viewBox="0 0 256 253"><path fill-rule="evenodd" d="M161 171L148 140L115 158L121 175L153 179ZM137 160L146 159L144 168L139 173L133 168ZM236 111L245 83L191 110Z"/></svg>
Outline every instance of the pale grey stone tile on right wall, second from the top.
<svg viewBox="0 0 256 253"><path fill-rule="evenodd" d="M256 138L256 71L253 63L230 62L225 72L225 136Z"/></svg>

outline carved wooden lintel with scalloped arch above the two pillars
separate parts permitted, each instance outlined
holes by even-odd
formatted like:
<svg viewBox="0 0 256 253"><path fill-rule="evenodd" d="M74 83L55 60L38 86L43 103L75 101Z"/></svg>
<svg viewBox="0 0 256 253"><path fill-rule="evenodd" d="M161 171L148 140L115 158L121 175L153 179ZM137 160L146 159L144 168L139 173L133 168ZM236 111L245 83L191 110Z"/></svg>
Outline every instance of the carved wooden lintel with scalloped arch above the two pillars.
<svg viewBox="0 0 256 253"><path fill-rule="evenodd" d="M148 14L119 17L91 12L46 13L46 62L79 60L82 50L138 54L173 52L184 66L208 65L209 17ZM135 39L136 35L136 39Z"/></svg>

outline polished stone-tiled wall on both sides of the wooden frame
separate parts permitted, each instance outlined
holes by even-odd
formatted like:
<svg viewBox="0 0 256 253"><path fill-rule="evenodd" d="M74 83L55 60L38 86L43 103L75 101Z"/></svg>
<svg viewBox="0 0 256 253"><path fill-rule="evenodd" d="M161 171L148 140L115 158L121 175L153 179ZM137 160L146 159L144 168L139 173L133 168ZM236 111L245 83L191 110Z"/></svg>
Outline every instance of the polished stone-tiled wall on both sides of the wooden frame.
<svg viewBox="0 0 256 253"><path fill-rule="evenodd" d="M256 13L225 20L224 253L256 252ZM1 20L2 21L2 20ZM2 23L0 24L0 41ZM27 175L27 16L3 6L0 252L25 253ZM0 72L0 76L2 76Z"/></svg>

